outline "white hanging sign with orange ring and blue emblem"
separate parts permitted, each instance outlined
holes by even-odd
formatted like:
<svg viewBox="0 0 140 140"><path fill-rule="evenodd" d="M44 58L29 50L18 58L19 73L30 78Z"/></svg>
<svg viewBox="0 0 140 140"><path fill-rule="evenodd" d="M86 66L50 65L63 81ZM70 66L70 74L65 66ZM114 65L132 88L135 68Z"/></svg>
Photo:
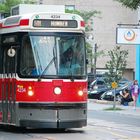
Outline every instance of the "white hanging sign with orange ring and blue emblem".
<svg viewBox="0 0 140 140"><path fill-rule="evenodd" d="M135 27L118 27L116 29L116 43L124 45L140 44L140 28Z"/></svg>

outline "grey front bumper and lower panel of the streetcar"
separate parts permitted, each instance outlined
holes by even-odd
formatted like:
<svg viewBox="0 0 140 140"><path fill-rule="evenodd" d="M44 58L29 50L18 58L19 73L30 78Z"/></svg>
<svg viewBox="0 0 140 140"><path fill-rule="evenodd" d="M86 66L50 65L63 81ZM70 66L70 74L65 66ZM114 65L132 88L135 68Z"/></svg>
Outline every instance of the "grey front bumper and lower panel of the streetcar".
<svg viewBox="0 0 140 140"><path fill-rule="evenodd" d="M80 128L87 125L86 103L19 103L18 126Z"/></svg>

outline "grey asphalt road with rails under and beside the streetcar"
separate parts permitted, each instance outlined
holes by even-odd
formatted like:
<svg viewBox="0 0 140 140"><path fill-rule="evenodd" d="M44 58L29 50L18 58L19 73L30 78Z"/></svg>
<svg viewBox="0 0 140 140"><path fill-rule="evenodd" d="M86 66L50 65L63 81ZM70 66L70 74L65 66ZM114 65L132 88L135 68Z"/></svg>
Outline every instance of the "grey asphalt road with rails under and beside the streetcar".
<svg viewBox="0 0 140 140"><path fill-rule="evenodd" d="M128 110L129 114L123 114L102 109L109 106L90 103L88 125L83 128L57 130L0 127L0 140L140 140L139 112L134 115L136 110Z"/></svg>

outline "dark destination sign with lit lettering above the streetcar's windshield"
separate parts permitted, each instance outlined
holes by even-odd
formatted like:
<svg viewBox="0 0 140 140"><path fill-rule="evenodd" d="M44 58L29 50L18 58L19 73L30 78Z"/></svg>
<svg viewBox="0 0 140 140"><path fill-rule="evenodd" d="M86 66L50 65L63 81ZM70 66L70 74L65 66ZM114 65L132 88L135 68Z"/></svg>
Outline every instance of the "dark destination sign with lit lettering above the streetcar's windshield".
<svg viewBox="0 0 140 140"><path fill-rule="evenodd" d="M76 20L50 20L50 19L35 19L33 27L42 28L77 28Z"/></svg>

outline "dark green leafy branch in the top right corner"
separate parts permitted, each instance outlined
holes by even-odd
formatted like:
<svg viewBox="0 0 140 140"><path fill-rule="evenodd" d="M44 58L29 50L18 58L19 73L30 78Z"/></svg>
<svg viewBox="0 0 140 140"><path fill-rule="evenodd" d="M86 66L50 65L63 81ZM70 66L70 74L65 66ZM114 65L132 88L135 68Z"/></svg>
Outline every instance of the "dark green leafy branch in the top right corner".
<svg viewBox="0 0 140 140"><path fill-rule="evenodd" d="M138 7L140 6L140 0L115 0L115 1L118 1L122 3L122 5L131 8L133 10L138 9Z"/></svg>

